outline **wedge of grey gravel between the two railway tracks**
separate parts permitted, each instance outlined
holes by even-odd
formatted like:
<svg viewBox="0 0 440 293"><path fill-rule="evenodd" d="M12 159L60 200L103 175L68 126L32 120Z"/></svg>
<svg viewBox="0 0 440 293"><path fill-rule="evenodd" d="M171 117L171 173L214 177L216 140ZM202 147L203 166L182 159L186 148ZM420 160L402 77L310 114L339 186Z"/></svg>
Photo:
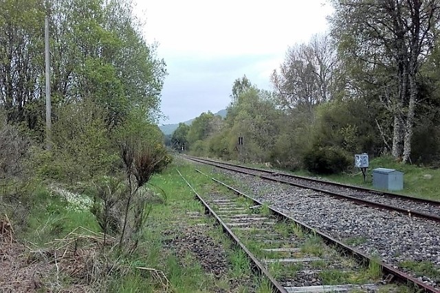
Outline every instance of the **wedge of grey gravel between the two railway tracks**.
<svg viewBox="0 0 440 293"><path fill-rule="evenodd" d="M378 255L385 263L401 268L401 261L429 261L430 277L418 278L440 288L440 224L410 218L352 202L338 200L311 189L292 187L254 176L214 169L233 176L254 192L256 199L274 209L314 226L364 253ZM437 270L438 274L435 273ZM415 272L410 272L417 276Z"/></svg>

